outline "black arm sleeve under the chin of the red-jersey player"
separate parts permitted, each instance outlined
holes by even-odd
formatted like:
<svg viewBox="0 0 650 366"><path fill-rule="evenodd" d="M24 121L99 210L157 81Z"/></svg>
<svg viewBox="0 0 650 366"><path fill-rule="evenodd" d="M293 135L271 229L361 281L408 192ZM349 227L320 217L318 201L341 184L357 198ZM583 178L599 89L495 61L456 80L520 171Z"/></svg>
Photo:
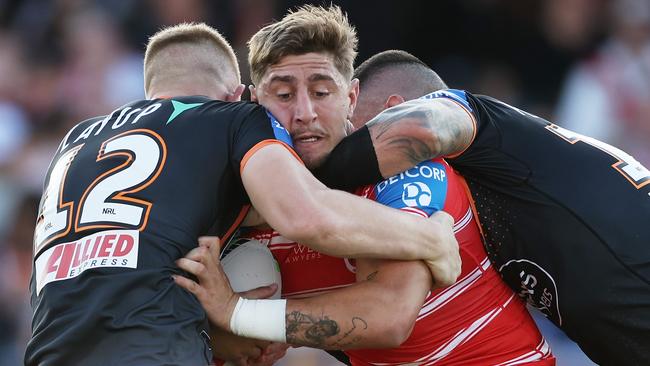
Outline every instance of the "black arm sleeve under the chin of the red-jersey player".
<svg viewBox="0 0 650 366"><path fill-rule="evenodd" d="M348 192L383 180L368 127L341 140L313 173L326 186Z"/></svg>

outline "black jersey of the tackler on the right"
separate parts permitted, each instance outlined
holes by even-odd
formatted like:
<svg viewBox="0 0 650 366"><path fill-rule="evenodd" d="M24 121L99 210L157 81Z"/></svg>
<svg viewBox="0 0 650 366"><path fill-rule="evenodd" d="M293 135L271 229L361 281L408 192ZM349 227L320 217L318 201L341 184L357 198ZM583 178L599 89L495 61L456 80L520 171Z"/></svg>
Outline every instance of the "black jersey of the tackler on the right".
<svg viewBox="0 0 650 366"><path fill-rule="evenodd" d="M436 92L476 123L449 160L504 280L603 365L650 365L650 172L493 98Z"/></svg>

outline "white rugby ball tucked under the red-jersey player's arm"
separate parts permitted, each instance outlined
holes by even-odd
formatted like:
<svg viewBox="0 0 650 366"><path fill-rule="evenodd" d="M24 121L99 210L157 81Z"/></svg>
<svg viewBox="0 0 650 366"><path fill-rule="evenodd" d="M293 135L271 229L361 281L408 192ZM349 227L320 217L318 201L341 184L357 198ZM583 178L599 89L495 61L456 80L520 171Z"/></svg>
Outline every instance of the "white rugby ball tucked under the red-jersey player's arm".
<svg viewBox="0 0 650 366"><path fill-rule="evenodd" d="M272 283L278 290L271 297L279 299L282 293L280 266L271 250L257 240L248 240L221 259L230 286L235 292L252 290Z"/></svg>

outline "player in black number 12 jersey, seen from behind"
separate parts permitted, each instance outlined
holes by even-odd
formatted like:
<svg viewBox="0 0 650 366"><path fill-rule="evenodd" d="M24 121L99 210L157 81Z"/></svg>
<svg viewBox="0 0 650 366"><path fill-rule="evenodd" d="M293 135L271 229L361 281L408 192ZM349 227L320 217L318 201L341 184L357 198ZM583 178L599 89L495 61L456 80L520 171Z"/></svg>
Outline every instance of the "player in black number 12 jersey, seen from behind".
<svg viewBox="0 0 650 366"><path fill-rule="evenodd" d="M214 29L159 32L144 67L148 99L73 127L48 170L26 365L208 364L207 319L174 284L174 261L200 235L227 237L249 199L321 252L430 259L436 280L455 280L449 217L418 219L319 183L272 116L232 103L243 85Z"/></svg>

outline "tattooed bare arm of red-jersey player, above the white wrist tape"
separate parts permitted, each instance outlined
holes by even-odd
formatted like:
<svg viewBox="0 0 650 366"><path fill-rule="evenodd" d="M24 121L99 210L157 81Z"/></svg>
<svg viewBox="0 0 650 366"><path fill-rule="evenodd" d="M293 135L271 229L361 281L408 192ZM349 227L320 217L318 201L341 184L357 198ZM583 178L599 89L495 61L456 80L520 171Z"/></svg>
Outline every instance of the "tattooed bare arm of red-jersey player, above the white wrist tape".
<svg viewBox="0 0 650 366"><path fill-rule="evenodd" d="M287 342L323 349L394 348L411 334L431 287L419 261L357 261L357 283L287 301Z"/></svg>

